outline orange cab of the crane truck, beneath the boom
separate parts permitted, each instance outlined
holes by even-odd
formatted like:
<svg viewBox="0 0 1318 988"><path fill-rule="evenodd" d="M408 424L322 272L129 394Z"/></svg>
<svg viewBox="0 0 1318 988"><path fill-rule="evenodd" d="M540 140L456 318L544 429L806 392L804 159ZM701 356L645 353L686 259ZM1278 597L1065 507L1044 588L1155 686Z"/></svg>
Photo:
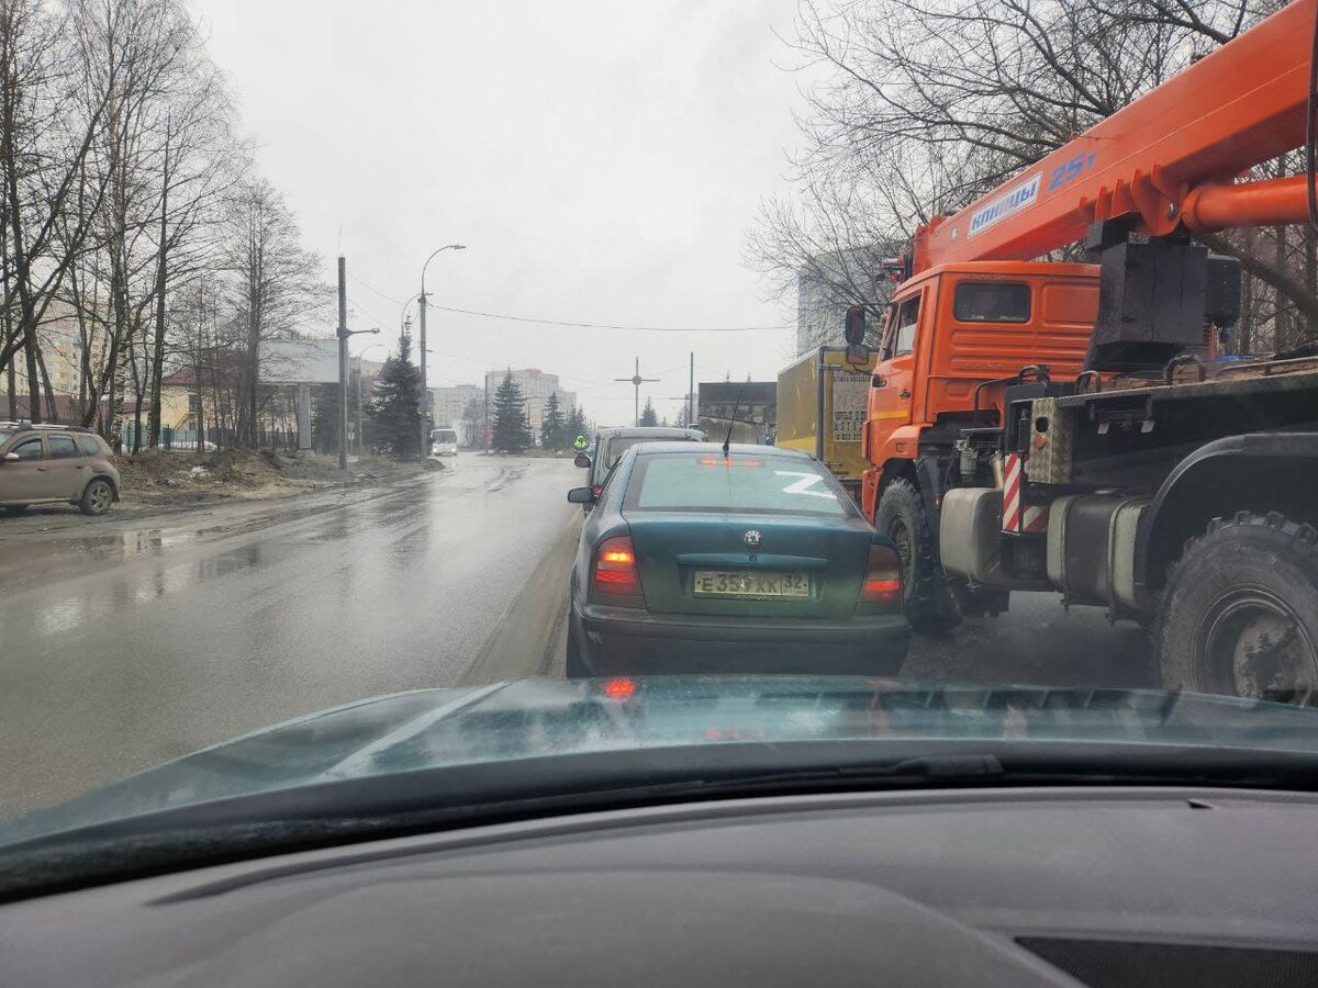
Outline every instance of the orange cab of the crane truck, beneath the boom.
<svg viewBox="0 0 1318 988"><path fill-rule="evenodd" d="M866 516L875 519L894 478L919 486L919 457L950 452L967 427L1000 427L1004 385L1021 368L1079 374L1097 314L1097 265L973 261L904 282L884 317L870 387Z"/></svg>

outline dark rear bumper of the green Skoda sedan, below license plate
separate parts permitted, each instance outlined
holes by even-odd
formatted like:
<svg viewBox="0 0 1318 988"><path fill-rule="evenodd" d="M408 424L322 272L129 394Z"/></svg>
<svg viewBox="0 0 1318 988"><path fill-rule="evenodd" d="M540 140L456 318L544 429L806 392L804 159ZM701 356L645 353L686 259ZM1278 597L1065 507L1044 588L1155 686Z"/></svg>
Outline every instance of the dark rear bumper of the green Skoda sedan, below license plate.
<svg viewBox="0 0 1318 988"><path fill-rule="evenodd" d="M596 676L894 676L911 644L900 614L746 619L573 603L572 624L581 660Z"/></svg>

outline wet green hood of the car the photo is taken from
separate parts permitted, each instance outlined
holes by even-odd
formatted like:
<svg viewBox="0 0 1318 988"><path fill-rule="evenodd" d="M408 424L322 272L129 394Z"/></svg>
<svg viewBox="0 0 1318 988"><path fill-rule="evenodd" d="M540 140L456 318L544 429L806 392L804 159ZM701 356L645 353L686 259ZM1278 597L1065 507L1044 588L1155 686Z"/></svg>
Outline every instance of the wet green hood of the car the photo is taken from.
<svg viewBox="0 0 1318 988"><path fill-rule="evenodd" d="M335 707L0 825L0 846L327 781L681 746L1014 739L1318 752L1318 713L1140 689L912 686L863 677L517 680Z"/></svg>

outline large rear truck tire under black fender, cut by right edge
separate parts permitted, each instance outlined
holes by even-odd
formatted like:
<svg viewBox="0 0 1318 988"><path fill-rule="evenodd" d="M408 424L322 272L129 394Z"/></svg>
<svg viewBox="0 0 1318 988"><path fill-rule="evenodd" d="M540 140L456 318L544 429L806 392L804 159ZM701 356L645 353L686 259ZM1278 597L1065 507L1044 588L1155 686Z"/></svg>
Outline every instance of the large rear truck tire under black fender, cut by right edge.
<svg viewBox="0 0 1318 988"><path fill-rule="evenodd" d="M1162 685L1318 698L1318 530L1272 512L1215 518L1168 577L1153 630Z"/></svg>

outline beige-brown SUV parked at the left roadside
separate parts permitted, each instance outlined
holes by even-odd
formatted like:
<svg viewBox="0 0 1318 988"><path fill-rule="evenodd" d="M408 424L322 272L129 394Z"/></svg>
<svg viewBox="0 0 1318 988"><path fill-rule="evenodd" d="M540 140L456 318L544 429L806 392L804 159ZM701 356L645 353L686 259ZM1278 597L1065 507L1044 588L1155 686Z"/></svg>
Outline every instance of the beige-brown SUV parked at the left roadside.
<svg viewBox="0 0 1318 988"><path fill-rule="evenodd" d="M72 425L0 422L0 511L69 502L103 515L119 501L119 470L105 440Z"/></svg>

